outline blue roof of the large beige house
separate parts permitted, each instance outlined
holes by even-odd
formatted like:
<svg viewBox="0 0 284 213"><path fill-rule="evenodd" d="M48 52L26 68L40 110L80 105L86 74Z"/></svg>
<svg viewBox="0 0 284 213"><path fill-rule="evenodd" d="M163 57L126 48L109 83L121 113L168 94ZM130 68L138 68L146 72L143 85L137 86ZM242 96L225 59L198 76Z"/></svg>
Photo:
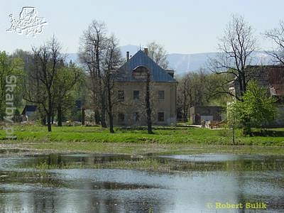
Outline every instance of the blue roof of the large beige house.
<svg viewBox="0 0 284 213"><path fill-rule="evenodd" d="M150 71L151 81L153 82L177 82L173 77L171 77L168 72L166 72L162 67L157 65L148 55L146 55L142 50L139 50L129 61L122 65L118 72L116 73L116 82L141 82L145 80L137 80L133 78L132 71L136 67L146 67Z"/></svg>

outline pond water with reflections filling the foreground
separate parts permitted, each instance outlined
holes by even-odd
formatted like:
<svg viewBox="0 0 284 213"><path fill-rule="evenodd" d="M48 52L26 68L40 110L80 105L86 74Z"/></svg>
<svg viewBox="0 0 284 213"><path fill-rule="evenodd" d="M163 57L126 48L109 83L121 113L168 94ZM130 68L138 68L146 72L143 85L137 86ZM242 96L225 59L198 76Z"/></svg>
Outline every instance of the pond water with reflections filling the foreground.
<svg viewBox="0 0 284 213"><path fill-rule="evenodd" d="M167 170L84 168L143 160ZM2 156L0 212L284 212L283 167L282 155ZM267 209L244 207L256 202Z"/></svg>

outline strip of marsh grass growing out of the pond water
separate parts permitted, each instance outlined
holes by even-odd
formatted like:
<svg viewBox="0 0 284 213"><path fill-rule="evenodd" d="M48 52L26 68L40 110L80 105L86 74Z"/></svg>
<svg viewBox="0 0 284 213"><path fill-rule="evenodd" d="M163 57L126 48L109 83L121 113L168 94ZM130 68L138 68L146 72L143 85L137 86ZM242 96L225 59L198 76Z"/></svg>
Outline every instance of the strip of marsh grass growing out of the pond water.
<svg viewBox="0 0 284 213"><path fill-rule="evenodd" d="M178 172L178 171L214 171L214 170L277 170L283 171L281 163L251 163L244 165L244 160L226 161L219 163L200 163L187 160L159 160L155 158L141 158L139 160L116 160L104 163L94 163L86 165L85 163L59 163L49 165L47 161L34 163L32 165L21 165L22 168L34 168L37 174L43 174L50 169L74 169L74 168L95 168L95 169L133 169L133 170L148 170L159 172ZM20 167L20 168L21 168Z"/></svg>

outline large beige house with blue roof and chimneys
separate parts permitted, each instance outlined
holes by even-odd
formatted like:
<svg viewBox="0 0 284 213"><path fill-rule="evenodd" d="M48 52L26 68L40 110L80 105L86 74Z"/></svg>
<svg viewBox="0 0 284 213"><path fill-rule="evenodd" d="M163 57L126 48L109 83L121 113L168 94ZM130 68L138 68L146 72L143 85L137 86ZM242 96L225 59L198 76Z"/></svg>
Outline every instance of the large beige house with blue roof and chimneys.
<svg viewBox="0 0 284 213"><path fill-rule="evenodd" d="M116 99L114 125L143 126L146 119L146 77L150 73L152 122L158 125L176 123L177 81L173 70L164 70L149 56L148 49L138 50L117 71L115 77Z"/></svg>

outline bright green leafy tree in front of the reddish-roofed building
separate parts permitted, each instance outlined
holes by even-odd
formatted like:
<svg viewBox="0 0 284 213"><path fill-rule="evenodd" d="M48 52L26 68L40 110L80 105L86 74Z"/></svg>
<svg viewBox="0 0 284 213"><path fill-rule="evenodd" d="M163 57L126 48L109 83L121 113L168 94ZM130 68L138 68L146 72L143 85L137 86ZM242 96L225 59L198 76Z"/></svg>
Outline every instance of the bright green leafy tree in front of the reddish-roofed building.
<svg viewBox="0 0 284 213"><path fill-rule="evenodd" d="M272 121L276 115L274 97L268 97L265 88L258 86L257 82L251 81L244 93L243 102L236 100L231 105L231 114L234 122L244 128L244 135L251 135L251 128L261 127Z"/></svg>

